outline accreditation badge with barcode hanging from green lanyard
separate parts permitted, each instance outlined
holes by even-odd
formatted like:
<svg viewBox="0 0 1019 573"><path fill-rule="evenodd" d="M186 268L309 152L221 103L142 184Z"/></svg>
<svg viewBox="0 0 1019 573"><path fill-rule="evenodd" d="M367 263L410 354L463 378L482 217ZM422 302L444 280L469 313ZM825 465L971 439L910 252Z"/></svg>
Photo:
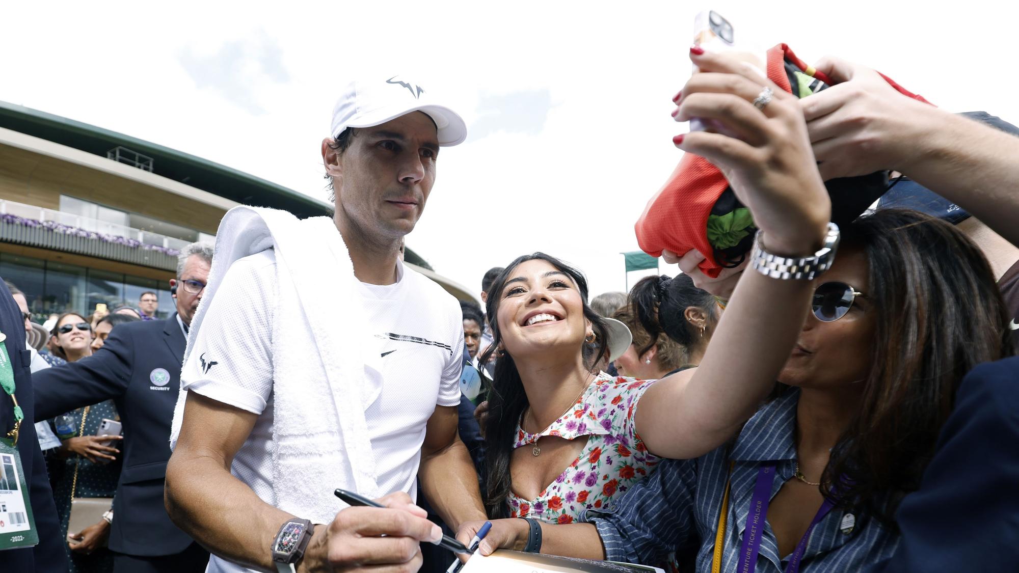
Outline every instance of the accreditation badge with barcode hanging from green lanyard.
<svg viewBox="0 0 1019 573"><path fill-rule="evenodd" d="M9 439L0 439L0 551L39 543L29 502L21 457Z"/></svg>

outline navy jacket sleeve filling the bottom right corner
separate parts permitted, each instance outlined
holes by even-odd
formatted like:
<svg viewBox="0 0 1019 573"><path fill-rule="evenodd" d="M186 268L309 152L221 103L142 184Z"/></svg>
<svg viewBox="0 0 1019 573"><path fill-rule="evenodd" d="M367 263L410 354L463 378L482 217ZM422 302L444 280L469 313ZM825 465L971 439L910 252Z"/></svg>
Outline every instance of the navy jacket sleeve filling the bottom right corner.
<svg viewBox="0 0 1019 573"><path fill-rule="evenodd" d="M1015 571L1019 548L1019 357L963 378L920 488L896 514L883 571Z"/></svg>

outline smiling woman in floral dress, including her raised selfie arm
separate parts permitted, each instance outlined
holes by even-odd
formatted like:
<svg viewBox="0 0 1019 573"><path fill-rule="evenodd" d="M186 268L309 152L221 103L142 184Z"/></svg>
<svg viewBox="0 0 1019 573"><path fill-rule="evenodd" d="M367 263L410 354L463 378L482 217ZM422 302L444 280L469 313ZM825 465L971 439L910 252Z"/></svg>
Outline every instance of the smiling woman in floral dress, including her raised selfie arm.
<svg viewBox="0 0 1019 573"><path fill-rule="evenodd" d="M791 97L775 100L775 107L798 112ZM814 253L809 268L819 272L838 230L827 224L830 201L816 170L796 168L812 164L802 116L796 119L777 121L773 137L753 152L783 169L747 173L755 187L734 188L770 252ZM486 422L485 505L492 517L569 523L588 509L614 506L658 458L695 458L723 444L773 385L810 297L808 281L748 275L714 329L726 350L712 353L712 345L698 368L647 383L591 372L607 332L587 307L582 278L539 253L511 263L489 290L488 352L498 354ZM733 348L743 360L731 360Z"/></svg>

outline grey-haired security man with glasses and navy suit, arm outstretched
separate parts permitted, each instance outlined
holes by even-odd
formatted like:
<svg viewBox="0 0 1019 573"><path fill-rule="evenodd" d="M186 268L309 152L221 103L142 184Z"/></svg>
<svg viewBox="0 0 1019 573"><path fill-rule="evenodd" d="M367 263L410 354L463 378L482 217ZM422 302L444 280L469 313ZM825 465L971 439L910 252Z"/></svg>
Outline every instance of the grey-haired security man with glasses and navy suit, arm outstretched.
<svg viewBox="0 0 1019 573"><path fill-rule="evenodd" d="M169 281L173 316L121 324L91 357L34 375L38 419L110 399L120 413L123 470L111 524L96 533L109 537L118 572L198 572L209 560L167 517L163 481L187 328L204 295L212 255L206 244L181 249L176 278Z"/></svg>

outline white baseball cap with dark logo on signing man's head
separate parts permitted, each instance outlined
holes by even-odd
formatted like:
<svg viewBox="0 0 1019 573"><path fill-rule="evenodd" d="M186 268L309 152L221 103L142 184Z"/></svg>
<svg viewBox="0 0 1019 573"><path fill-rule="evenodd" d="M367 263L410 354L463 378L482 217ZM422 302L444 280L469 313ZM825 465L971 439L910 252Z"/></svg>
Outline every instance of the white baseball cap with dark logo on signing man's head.
<svg viewBox="0 0 1019 573"><path fill-rule="evenodd" d="M372 127L414 111L432 118L440 146L458 145L467 139L467 124L455 111L433 103L424 88L399 75L347 84L333 107L329 134L335 138L347 127Z"/></svg>

